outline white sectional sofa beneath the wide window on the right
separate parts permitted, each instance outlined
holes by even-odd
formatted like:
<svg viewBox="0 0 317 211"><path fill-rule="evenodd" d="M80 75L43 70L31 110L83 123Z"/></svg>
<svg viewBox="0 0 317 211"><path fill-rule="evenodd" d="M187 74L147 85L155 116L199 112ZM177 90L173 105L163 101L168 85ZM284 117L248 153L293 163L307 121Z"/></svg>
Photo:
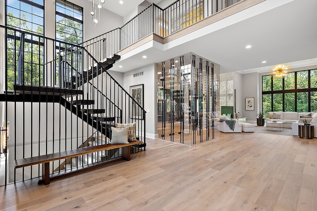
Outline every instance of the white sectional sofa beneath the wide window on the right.
<svg viewBox="0 0 317 211"><path fill-rule="evenodd" d="M284 123L284 127L285 128L293 128L292 124L298 122L298 120L300 120L301 116L305 116L308 114L312 114L314 115L315 113L313 112L305 112L305 113L298 113L298 112L268 112L265 122L266 121L283 121ZM269 118L271 117L271 118ZM273 127L279 127L279 125L272 125Z"/></svg>

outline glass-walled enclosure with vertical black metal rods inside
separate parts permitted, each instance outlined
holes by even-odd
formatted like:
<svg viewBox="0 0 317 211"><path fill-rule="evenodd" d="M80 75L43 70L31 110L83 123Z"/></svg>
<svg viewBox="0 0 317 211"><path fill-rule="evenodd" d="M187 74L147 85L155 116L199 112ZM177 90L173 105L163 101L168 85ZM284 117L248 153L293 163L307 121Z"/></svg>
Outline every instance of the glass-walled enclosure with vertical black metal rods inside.
<svg viewBox="0 0 317 211"><path fill-rule="evenodd" d="M194 53L157 63L159 138L193 145L219 137L219 72Z"/></svg>

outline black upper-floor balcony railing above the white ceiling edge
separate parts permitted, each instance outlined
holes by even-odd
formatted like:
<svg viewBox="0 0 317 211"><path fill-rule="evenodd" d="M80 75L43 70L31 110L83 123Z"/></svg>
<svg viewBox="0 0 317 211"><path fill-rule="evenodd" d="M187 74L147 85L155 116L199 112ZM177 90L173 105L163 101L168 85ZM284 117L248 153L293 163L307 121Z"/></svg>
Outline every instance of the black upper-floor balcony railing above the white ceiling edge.
<svg viewBox="0 0 317 211"><path fill-rule="evenodd" d="M177 0L164 9L153 3L121 28L83 42L83 46L103 61L152 33L165 38L239 1L243 0Z"/></svg>

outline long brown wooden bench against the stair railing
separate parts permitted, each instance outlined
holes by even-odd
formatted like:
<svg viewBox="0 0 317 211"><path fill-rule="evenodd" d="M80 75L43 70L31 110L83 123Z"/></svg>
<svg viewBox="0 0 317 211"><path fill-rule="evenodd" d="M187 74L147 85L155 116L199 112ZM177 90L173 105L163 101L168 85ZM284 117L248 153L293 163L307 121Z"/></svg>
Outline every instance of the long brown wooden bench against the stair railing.
<svg viewBox="0 0 317 211"><path fill-rule="evenodd" d="M127 161L131 160L131 146L141 144L142 141L131 141L128 144L103 144L98 146L73 149L64 152L56 152L48 155L40 155L32 158L15 160L15 169L42 164L42 180L39 183L50 184L50 162L66 158L73 158L80 155L90 154L103 150L122 148L121 158Z"/></svg>

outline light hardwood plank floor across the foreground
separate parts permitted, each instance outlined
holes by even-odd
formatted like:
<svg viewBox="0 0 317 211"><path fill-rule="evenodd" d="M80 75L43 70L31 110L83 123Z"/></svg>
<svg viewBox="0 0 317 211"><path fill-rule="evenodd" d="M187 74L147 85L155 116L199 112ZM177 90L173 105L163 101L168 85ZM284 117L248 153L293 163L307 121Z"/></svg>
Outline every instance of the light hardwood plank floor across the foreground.
<svg viewBox="0 0 317 211"><path fill-rule="evenodd" d="M0 187L0 210L317 211L317 138L221 133L195 146L147 140L132 160Z"/></svg>

